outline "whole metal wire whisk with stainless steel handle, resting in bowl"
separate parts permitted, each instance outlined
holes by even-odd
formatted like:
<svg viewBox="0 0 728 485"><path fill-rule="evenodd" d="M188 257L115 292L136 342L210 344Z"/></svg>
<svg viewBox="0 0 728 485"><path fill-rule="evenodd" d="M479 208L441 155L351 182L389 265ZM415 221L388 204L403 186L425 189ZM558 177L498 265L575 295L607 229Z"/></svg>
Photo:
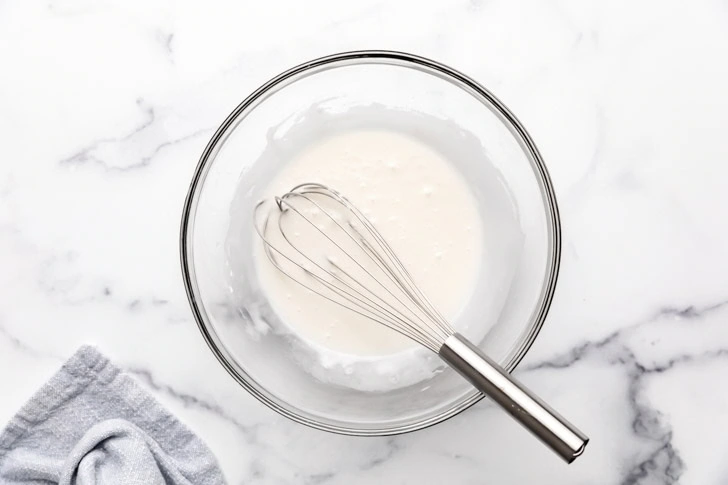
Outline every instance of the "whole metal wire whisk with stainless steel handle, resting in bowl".
<svg viewBox="0 0 728 485"><path fill-rule="evenodd" d="M308 290L435 352L567 462L588 438L455 332L374 228L321 184L294 187L255 207L271 263Z"/></svg>

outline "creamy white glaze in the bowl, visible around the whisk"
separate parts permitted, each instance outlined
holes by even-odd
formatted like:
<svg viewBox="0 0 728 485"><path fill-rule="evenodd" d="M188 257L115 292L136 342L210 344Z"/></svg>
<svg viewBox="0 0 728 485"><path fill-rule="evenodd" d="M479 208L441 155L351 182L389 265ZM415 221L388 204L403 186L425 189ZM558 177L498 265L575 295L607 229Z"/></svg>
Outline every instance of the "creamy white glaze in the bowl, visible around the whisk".
<svg viewBox="0 0 728 485"><path fill-rule="evenodd" d="M304 182L349 198L399 255L419 287L455 320L472 295L483 251L482 218L462 176L424 143L389 131L352 131L305 148L265 190L282 195ZM326 244L316 231L289 230L309 254ZM358 356L414 346L396 332L311 295L281 274L256 245L262 288L280 318L312 343ZM336 248L330 245L331 256ZM356 268L352 268L356 269Z"/></svg>

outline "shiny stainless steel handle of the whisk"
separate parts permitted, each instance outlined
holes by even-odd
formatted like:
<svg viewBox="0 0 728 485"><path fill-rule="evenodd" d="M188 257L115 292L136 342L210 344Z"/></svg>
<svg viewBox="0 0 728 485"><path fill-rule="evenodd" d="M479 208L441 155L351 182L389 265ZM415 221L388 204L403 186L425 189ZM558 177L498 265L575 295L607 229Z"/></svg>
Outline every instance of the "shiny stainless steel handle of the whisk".
<svg viewBox="0 0 728 485"><path fill-rule="evenodd" d="M523 387L462 335L451 335L440 357L516 421L571 463L584 452L589 438Z"/></svg>

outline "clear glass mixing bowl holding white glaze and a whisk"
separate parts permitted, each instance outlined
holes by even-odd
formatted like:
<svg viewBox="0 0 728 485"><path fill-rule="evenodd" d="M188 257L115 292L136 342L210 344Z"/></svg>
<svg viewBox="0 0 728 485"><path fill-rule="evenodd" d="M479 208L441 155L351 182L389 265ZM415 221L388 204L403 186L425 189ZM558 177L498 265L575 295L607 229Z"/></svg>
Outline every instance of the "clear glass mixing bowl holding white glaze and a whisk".
<svg viewBox="0 0 728 485"><path fill-rule="evenodd" d="M454 323L468 323L466 337L513 370L546 318L558 275L553 187L528 133L495 96L422 57L336 54L252 93L202 154L184 206L181 263L203 337L251 394L315 428L390 435L441 422L483 396L447 367L376 392L322 379L300 345L275 330L252 260L252 208L276 171L311 140L361 127L419 137L467 180L487 247L473 297Z"/></svg>

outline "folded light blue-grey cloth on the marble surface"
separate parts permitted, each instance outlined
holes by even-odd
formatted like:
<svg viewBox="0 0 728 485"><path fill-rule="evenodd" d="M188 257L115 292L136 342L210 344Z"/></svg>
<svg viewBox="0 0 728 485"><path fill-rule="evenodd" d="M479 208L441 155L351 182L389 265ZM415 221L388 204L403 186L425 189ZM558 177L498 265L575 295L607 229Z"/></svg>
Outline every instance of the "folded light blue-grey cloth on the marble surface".
<svg viewBox="0 0 728 485"><path fill-rule="evenodd" d="M84 346L0 433L0 483L217 485L205 444Z"/></svg>

